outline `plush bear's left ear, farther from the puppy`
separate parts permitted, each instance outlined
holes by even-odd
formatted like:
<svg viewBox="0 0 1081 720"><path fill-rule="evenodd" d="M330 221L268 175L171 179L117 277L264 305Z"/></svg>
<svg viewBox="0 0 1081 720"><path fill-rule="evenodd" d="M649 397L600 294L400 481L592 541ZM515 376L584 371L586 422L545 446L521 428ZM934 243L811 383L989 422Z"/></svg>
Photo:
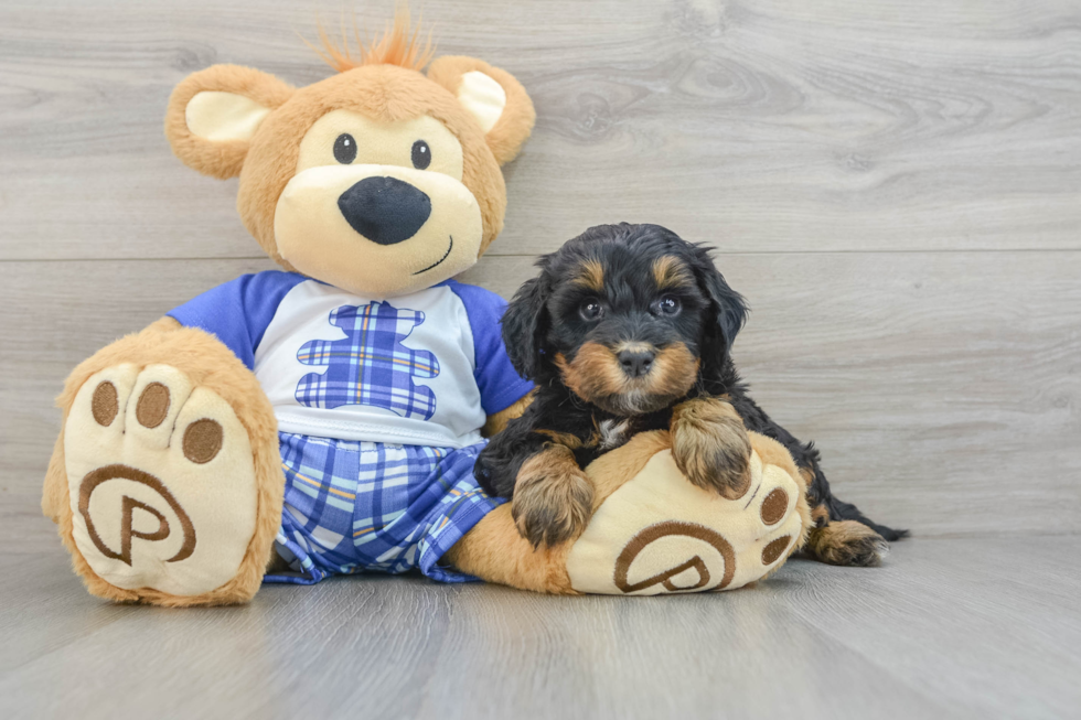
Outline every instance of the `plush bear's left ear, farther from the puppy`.
<svg viewBox="0 0 1081 720"><path fill-rule="evenodd" d="M212 65L173 89L165 110L165 138L189 168L222 180L235 178L259 125L292 93L274 75Z"/></svg>

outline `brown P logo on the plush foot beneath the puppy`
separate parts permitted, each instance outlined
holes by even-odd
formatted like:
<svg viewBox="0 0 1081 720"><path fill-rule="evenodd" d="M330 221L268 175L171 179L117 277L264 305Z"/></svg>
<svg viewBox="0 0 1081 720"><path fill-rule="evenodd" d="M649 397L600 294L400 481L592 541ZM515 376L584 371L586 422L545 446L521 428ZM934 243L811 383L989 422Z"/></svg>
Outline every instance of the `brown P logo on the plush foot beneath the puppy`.
<svg viewBox="0 0 1081 720"><path fill-rule="evenodd" d="M653 542L672 536L683 536L696 541L706 542L717 550L720 557L725 560L725 574L720 580L720 584L718 584L715 590L724 590L726 587L728 587L728 583L732 581L732 577L736 574L736 552L732 550L732 546L719 533L716 533L708 527L696 525L694 523L677 522L657 523L656 525L651 525L631 538L631 541L627 544L623 551L619 554L618 558L616 558L616 587L625 593L630 593L638 592L639 590L644 590L646 588L652 588L656 584L662 584L664 589L670 592L675 592L677 590L697 590L698 588L704 588L707 585L710 580L709 569L706 567L706 562L698 555L695 555L686 562L682 562L670 570L659 572L650 578L646 578L645 580L634 583L628 580L628 573L631 570L631 565L634 562L634 559L638 558L642 551ZM698 573L698 581L695 584L678 588L672 582L673 578L692 568L694 568Z"/></svg>

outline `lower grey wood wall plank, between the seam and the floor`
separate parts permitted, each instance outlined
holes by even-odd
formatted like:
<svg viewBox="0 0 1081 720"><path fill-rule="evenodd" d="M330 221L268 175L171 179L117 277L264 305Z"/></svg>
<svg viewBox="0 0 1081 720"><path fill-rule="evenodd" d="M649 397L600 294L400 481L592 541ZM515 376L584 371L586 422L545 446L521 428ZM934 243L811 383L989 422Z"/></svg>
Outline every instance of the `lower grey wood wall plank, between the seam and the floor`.
<svg viewBox="0 0 1081 720"><path fill-rule="evenodd" d="M922 535L1081 531L1081 254L734 254L736 357L842 497ZM0 264L0 537L33 545L69 369L266 260ZM463 277L504 295L532 259Z"/></svg>

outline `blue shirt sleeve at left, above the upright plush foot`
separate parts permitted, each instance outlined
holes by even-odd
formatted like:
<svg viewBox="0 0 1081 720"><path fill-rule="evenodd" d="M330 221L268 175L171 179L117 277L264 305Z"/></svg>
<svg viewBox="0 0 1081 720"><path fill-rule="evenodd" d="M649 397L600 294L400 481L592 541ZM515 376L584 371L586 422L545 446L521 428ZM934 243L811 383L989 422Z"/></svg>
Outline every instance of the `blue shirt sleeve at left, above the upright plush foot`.
<svg viewBox="0 0 1081 720"><path fill-rule="evenodd" d="M199 327L215 335L251 369L255 350L282 298L307 279L278 270L240 276L167 314L185 327Z"/></svg>

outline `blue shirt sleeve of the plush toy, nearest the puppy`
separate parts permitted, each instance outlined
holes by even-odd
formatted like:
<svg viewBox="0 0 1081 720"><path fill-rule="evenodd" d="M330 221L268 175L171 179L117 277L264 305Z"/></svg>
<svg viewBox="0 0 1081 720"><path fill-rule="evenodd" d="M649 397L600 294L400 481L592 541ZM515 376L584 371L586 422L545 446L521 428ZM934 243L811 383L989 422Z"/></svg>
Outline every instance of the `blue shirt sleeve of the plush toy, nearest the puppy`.
<svg viewBox="0 0 1081 720"><path fill-rule="evenodd" d="M511 365L503 346L500 320L506 309L506 300L477 286L451 281L448 287L465 307L473 332L473 377L481 391L481 406L485 413L495 415L533 389L533 383L523 379Z"/></svg>

